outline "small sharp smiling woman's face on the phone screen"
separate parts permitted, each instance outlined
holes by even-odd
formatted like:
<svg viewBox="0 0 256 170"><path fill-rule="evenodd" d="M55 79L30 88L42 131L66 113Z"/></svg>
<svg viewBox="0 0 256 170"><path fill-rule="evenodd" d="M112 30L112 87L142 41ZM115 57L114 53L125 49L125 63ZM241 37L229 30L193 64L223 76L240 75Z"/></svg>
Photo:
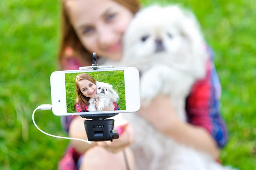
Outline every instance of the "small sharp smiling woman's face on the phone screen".
<svg viewBox="0 0 256 170"><path fill-rule="evenodd" d="M88 98L94 98L96 96L96 85L88 80L80 80L78 82L80 91L84 96Z"/></svg>

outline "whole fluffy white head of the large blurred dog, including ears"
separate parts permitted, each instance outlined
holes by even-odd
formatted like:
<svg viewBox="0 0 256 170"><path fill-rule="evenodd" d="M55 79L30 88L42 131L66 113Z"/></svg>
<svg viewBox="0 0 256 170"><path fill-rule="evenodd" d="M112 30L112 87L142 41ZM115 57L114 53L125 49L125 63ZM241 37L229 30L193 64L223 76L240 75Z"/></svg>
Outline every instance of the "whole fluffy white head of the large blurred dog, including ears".
<svg viewBox="0 0 256 170"><path fill-rule="evenodd" d="M198 51L194 48L202 46L197 24L195 18L186 15L177 6L145 8L135 15L125 32L124 60L141 65L186 65L193 60L192 53ZM191 57L188 58L187 54Z"/></svg>

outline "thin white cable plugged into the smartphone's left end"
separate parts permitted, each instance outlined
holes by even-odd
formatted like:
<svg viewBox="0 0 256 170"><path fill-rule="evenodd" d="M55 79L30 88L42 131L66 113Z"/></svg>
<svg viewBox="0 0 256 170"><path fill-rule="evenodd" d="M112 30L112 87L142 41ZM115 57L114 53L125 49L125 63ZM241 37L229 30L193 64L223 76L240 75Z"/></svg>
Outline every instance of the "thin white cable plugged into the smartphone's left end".
<svg viewBox="0 0 256 170"><path fill-rule="evenodd" d="M45 135L52 136L52 137L55 137L55 138L73 139L73 140L78 140L78 141L84 141L84 142L86 142L86 143L88 143L88 144L91 144L91 143L92 143L91 141L88 141L88 140L85 141L85 140L79 139L79 138L68 138L68 137L56 136L56 135L51 135L51 134L49 134L49 133L44 132L43 130L41 130L41 129L37 126L37 124L35 123L35 120L34 120L35 111L36 111L37 109L41 109L41 110L50 110L50 109L52 109L52 105L50 105L50 104L42 104L41 106L38 106L37 108L35 108L35 110L34 110L34 112L33 112L33 114L32 114L33 123L35 124L35 127L36 127L39 131L41 131L41 133L44 133Z"/></svg>

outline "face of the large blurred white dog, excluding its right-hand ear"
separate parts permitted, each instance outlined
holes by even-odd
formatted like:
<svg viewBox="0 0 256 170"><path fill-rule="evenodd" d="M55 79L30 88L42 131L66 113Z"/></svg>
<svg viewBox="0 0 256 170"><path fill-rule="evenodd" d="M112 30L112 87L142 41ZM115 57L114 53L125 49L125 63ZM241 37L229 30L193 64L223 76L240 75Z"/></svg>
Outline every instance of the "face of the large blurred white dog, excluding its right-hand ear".
<svg viewBox="0 0 256 170"><path fill-rule="evenodd" d="M142 58L160 53L175 53L182 42L179 31L168 23L165 11L149 7L139 12L131 22L125 35L125 49L136 51L134 57Z"/></svg>

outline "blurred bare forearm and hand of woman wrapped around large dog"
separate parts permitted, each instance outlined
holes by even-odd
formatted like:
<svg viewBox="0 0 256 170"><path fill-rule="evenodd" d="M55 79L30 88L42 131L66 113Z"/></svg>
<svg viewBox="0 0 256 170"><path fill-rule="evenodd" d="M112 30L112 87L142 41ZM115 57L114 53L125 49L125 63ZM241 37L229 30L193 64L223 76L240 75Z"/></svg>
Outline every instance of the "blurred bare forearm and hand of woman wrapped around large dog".
<svg viewBox="0 0 256 170"><path fill-rule="evenodd" d="M143 118L164 135L170 136L182 144L205 151L214 158L218 158L219 149L210 133L203 127L178 120L168 96L158 96L152 102L154 102L154 105L140 108L138 113Z"/></svg>

